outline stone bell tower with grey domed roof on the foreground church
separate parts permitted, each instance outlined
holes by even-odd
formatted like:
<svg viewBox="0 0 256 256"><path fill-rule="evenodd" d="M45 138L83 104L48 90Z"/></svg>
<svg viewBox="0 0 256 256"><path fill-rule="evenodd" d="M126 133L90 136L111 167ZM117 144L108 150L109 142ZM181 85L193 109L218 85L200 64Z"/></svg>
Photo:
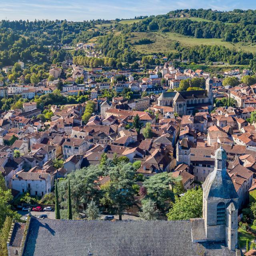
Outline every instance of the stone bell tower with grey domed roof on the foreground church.
<svg viewBox="0 0 256 256"><path fill-rule="evenodd" d="M203 218L209 241L226 241L232 251L238 237L238 194L226 170L226 151L215 152L215 167L203 184Z"/></svg>

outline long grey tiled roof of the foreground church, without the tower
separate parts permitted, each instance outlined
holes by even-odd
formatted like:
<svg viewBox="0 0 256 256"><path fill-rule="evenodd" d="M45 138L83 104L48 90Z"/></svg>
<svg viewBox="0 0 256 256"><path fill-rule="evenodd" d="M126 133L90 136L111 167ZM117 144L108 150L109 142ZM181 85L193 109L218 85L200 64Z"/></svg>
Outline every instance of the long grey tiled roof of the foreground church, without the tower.
<svg viewBox="0 0 256 256"><path fill-rule="evenodd" d="M31 218L24 256L235 256L205 237L204 220L84 221Z"/></svg>

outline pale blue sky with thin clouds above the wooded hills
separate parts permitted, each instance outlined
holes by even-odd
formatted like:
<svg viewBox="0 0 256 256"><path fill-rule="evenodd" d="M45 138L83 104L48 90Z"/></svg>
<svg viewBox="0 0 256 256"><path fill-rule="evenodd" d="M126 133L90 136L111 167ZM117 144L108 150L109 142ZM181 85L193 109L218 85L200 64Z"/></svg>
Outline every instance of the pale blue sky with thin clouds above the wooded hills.
<svg viewBox="0 0 256 256"><path fill-rule="evenodd" d="M255 0L0 0L0 20L91 20L165 14L183 8L256 9Z"/></svg>

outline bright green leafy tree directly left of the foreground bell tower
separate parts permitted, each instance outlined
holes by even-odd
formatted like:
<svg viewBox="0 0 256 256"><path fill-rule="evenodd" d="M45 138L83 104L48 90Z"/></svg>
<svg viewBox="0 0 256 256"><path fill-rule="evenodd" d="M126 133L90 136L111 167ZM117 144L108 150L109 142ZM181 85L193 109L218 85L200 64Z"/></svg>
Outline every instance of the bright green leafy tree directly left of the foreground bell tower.
<svg viewBox="0 0 256 256"><path fill-rule="evenodd" d="M175 203L167 214L168 220L188 220L201 218L203 208L203 190L190 189L184 196L175 196Z"/></svg>

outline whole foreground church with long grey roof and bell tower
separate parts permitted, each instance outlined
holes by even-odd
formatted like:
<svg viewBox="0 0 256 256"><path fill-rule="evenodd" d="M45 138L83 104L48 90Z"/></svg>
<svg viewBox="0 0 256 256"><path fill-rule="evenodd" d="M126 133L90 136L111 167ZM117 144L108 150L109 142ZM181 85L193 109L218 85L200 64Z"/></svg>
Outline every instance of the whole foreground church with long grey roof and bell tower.
<svg viewBox="0 0 256 256"><path fill-rule="evenodd" d="M203 184L203 217L176 221L85 221L29 217L15 222L8 255L240 256L238 195L226 172L226 152Z"/></svg>

